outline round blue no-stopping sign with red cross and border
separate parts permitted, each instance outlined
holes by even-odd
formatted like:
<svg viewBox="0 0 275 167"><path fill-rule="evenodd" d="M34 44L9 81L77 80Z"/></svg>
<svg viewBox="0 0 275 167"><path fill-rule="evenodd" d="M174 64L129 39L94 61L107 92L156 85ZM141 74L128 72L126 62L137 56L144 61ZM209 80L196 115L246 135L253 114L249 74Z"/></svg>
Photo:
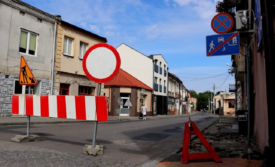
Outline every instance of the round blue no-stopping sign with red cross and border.
<svg viewBox="0 0 275 167"><path fill-rule="evenodd" d="M219 13L211 21L212 29L218 34L229 32L233 27L233 18L228 13Z"/></svg>

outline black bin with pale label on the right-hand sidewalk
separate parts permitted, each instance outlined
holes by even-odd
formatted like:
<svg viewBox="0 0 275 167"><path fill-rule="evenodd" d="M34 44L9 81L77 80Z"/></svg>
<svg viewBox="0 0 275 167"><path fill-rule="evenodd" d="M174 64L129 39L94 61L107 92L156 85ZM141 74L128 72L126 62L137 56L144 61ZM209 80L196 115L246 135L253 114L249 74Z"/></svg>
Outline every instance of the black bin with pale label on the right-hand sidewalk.
<svg viewBox="0 0 275 167"><path fill-rule="evenodd" d="M239 133L247 135L248 123L247 123L247 110L237 110L236 114L238 116Z"/></svg>

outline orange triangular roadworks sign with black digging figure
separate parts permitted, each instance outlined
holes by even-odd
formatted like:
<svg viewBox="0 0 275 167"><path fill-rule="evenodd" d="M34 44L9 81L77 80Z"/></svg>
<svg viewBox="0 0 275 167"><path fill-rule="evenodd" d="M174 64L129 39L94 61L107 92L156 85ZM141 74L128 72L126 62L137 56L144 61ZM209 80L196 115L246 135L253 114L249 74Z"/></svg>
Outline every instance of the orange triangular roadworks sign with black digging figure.
<svg viewBox="0 0 275 167"><path fill-rule="evenodd" d="M37 85L37 81L34 77L34 74L32 74L32 71L23 56L21 56L19 84L20 85Z"/></svg>

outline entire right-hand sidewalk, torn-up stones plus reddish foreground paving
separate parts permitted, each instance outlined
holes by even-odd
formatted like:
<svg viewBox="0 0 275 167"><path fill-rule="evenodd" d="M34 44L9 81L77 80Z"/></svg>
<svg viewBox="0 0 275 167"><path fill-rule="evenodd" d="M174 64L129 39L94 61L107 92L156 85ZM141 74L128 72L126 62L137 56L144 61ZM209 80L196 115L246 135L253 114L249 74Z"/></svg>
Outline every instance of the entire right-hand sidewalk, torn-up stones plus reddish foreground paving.
<svg viewBox="0 0 275 167"><path fill-rule="evenodd" d="M232 126L237 125L238 120L233 116L220 116L219 120L202 131L203 136L208 140L215 152L223 159L223 163L212 161L192 161L192 163L181 164L172 160L180 160L181 150L171 157L161 160L157 167L181 167L181 166L235 166L235 167L267 167L265 158L254 138L250 138L250 146L246 135L232 132ZM207 152L197 136L192 135L189 153ZM238 158L238 159L236 159ZM162 164L169 162L168 164ZM232 163L235 162L235 163ZM242 162L238 163L238 162Z"/></svg>

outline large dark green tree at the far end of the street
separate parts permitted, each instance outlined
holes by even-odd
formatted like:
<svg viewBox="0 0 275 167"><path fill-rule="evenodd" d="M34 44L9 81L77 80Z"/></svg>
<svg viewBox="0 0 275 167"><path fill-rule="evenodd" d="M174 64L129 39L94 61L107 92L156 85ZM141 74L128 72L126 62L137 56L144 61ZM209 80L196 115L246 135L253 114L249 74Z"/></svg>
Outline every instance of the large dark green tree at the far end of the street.
<svg viewBox="0 0 275 167"><path fill-rule="evenodd" d="M198 93L198 97L197 97L197 108L200 110L200 109L203 109L203 108L206 108L208 109L207 106L209 106L209 100L211 100L211 94L212 94L212 98L214 96L214 93L213 92L210 92L209 90L208 91L205 91L205 92L201 92L201 93Z"/></svg>

